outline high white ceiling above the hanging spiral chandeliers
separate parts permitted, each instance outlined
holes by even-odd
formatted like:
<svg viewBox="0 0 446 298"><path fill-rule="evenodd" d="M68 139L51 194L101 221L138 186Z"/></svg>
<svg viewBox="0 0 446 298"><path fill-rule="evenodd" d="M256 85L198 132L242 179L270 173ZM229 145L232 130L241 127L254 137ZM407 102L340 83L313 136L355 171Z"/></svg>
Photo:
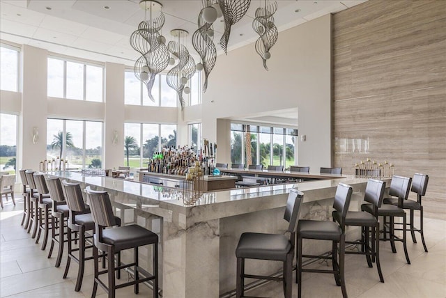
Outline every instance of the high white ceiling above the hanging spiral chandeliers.
<svg viewBox="0 0 446 298"><path fill-rule="evenodd" d="M279 31L328 13L350 8L367 0L277 0L275 24ZM162 33L171 40L171 29L197 30L201 0L159 0L166 23ZM233 26L229 49L254 42L254 12L263 0L252 0L247 15ZM132 66L139 54L130 47L130 34L144 20L139 0L1 0L0 39L47 49L49 52L92 61ZM214 23L218 44L223 23ZM187 47L194 54L190 36ZM280 38L280 33L279 33ZM217 45L217 54L222 54ZM254 49L253 49L254 51ZM274 48L272 49L272 52Z"/></svg>

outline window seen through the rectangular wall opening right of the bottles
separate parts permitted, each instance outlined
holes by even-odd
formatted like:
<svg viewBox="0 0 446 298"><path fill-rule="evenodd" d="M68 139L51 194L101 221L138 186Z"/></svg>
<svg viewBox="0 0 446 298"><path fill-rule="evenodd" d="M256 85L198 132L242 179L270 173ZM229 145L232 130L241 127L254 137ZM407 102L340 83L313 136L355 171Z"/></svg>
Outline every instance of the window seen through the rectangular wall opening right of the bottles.
<svg viewBox="0 0 446 298"><path fill-rule="evenodd" d="M297 135L291 128L231 123L231 162L289 168L296 162Z"/></svg>

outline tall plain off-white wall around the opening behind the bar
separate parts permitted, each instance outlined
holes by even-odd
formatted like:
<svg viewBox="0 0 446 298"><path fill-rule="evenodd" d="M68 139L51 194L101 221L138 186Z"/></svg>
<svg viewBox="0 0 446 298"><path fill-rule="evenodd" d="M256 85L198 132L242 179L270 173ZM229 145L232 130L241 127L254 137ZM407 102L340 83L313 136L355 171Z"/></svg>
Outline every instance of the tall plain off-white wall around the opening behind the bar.
<svg viewBox="0 0 446 298"><path fill-rule="evenodd" d="M217 57L203 95L203 137L222 140L218 118L298 107L299 134L307 136L299 141L299 164L330 166L331 15L280 32L271 54L269 71L254 44ZM218 162L230 163L230 142L217 145Z"/></svg>

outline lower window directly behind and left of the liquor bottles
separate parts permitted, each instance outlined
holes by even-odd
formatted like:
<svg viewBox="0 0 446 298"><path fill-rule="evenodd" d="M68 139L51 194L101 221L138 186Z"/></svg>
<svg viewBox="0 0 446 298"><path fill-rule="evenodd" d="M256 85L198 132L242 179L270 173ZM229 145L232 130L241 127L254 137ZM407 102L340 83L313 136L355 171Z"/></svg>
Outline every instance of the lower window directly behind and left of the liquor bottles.
<svg viewBox="0 0 446 298"><path fill-rule="evenodd" d="M148 160L164 146L176 147L176 125L125 123L124 164L146 168Z"/></svg>

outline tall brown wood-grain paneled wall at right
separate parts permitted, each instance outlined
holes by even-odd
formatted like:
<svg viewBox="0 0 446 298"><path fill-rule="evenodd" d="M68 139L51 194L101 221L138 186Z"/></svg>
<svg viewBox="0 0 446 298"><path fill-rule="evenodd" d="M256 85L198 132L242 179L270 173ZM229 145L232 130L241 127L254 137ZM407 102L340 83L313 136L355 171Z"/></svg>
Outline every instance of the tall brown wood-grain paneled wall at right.
<svg viewBox="0 0 446 298"><path fill-rule="evenodd" d="M424 216L446 219L446 1L367 1L332 21L334 166L426 173Z"/></svg>

